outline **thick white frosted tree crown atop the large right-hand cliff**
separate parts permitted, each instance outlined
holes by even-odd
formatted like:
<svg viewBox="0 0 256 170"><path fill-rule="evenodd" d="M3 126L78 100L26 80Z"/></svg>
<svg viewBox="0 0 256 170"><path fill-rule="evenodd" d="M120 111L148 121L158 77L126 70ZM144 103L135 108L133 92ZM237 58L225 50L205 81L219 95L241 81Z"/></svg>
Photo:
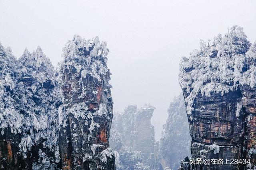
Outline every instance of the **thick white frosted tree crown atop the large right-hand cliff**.
<svg viewBox="0 0 256 170"><path fill-rule="evenodd" d="M190 53L189 58L182 58L179 82L187 94L188 115L193 111L192 105L198 94L210 97L238 88L250 45L243 28L233 26L224 36L219 34L207 42L201 41L200 49Z"/></svg>

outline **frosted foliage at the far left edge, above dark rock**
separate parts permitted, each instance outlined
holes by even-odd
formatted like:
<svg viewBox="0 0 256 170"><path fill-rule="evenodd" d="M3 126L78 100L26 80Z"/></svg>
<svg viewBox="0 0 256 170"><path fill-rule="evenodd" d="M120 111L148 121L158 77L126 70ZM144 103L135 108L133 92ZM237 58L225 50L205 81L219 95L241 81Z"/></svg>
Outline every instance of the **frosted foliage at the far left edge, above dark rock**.
<svg viewBox="0 0 256 170"><path fill-rule="evenodd" d="M10 48L5 49L0 43L0 129L10 128L14 134L21 133L24 115L18 110L16 86L18 79L18 63Z"/></svg>

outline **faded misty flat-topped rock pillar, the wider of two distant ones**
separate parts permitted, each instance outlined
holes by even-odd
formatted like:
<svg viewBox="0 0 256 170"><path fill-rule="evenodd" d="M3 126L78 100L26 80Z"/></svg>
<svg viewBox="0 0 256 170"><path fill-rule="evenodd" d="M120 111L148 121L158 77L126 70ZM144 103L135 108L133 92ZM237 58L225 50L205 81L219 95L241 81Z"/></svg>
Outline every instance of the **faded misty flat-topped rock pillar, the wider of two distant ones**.
<svg viewBox="0 0 256 170"><path fill-rule="evenodd" d="M137 109L129 105L124 113L114 115L110 147L116 150L118 170L158 169L158 146L151 117L154 107Z"/></svg>

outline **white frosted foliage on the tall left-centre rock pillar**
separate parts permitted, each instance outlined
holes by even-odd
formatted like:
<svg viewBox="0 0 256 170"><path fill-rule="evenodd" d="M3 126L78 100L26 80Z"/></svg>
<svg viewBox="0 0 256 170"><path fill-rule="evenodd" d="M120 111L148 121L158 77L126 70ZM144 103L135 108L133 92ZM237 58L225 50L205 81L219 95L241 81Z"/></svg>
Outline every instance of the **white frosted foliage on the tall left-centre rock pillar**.
<svg viewBox="0 0 256 170"><path fill-rule="evenodd" d="M93 39L86 40L79 35L74 35L72 40L69 40L65 47L63 48L62 57L64 61L60 64L60 75L59 82L60 86L64 87L64 72L66 69L74 67L75 72L71 77L70 81L76 82L72 84L72 93L77 94L79 99L88 98L90 93L96 98L98 96L98 89L96 87L90 87L86 85L85 80L88 78L88 75L93 78L93 81L102 82L103 77L108 78L109 69L106 66L108 54L108 48L106 47L106 42L100 43L98 37ZM79 77L79 80L76 80ZM80 89L80 86L82 90ZM110 85L109 88L111 88ZM106 89L104 89L106 90ZM90 134L87 139L90 141L92 132L95 130L95 127L98 127L98 123L94 121L94 116L106 116L107 117L107 107L105 103L99 105L99 108L95 108L94 111L88 110L88 102L76 103L72 107L66 109L66 115L72 114L74 118L82 118L85 120L86 125L90 125ZM67 103L67 102L66 102ZM66 115L62 114L63 123L66 121ZM65 125L65 124L63 124ZM76 127L76 124L74 125ZM86 135L86 134L85 134Z"/></svg>

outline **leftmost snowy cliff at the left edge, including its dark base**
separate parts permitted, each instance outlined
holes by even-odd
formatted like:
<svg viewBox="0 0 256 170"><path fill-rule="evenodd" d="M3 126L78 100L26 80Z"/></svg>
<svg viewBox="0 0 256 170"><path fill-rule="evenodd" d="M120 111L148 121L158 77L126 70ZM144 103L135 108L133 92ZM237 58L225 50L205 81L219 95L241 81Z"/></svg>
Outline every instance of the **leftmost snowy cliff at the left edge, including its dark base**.
<svg viewBox="0 0 256 170"><path fill-rule="evenodd" d="M24 115L18 109L16 95L18 62L10 48L0 43L0 168L12 169L14 160L22 159L19 154L19 135L24 127ZM15 153L15 154L13 154Z"/></svg>

